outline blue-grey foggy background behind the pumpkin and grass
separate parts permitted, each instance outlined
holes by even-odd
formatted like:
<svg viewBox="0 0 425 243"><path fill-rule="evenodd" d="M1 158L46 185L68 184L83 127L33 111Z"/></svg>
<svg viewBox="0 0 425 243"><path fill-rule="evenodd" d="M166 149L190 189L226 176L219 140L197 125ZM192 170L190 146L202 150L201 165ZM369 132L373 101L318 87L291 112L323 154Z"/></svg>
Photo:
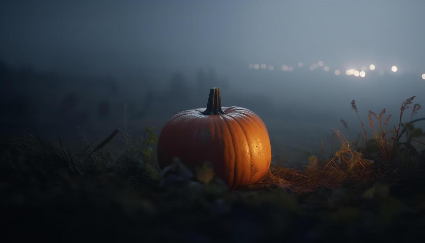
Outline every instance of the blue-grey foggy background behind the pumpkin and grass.
<svg viewBox="0 0 425 243"><path fill-rule="evenodd" d="M72 143L83 131L98 141L122 126L127 106L137 137L205 107L220 86L223 106L263 119L275 160L305 160L321 140L334 146L334 128L357 137L353 99L363 123L386 108L390 127L408 97L425 104L424 9L420 0L3 0L1 134Z"/></svg>

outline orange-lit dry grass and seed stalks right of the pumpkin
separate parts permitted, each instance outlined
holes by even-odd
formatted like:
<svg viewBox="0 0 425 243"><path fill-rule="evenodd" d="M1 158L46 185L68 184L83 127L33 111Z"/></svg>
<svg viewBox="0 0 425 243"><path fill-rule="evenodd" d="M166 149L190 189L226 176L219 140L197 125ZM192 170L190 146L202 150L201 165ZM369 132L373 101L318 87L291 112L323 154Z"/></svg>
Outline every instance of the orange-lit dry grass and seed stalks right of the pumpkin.
<svg viewBox="0 0 425 243"><path fill-rule="evenodd" d="M289 167L285 166L285 162L276 163L270 167L269 173L255 185L248 186L249 189L264 189L270 188L271 185L278 185L280 188L293 193L313 192L320 187L338 188L340 186L349 186L355 189L366 189L372 186L379 180L400 180L406 178L416 178L423 175L423 172L416 169L415 166L406 166L403 162L405 154L400 154L399 146L403 144L406 149L405 153L410 150L413 157L408 160L417 161L416 167L420 164L420 157L416 156L417 152L409 143L399 143L399 138L402 133L399 132L402 126L403 112L409 108L415 96L410 97L402 103L400 108L399 128L395 129L395 137L387 137L387 126L391 117L389 114L384 119L386 109L382 109L379 114L369 111L368 120L372 130L374 140L379 147L379 153L369 154L367 149L366 130L363 126L358 114L355 100L351 102L351 108L357 114L363 136L365 139L365 151L354 150L350 143L346 140L343 133L339 130L334 130L341 142L341 148L336 152L335 157L330 160L318 161L317 157L312 157L310 163L305 169L295 169L289 162ZM416 114L421 108L419 104L415 104L412 110L412 115ZM375 119L375 120L374 120ZM411 120L411 119L410 119ZM424 118L414 120L419 121ZM344 120L341 120L348 130L348 126ZM375 129L374 122L377 121L378 128ZM358 137L357 137L358 140ZM408 139L410 140L410 139ZM355 142L354 144L357 144ZM415 155L416 154L416 155ZM409 155L410 156L410 155ZM416 157L415 157L416 156ZM397 178L397 179L396 179Z"/></svg>

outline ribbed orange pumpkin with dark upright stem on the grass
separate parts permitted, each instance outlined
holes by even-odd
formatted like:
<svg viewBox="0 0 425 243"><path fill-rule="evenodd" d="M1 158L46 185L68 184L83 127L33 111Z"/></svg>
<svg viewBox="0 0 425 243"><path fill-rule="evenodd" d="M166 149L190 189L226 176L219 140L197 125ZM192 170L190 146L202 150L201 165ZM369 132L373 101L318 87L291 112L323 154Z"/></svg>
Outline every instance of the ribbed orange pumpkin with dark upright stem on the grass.
<svg viewBox="0 0 425 243"><path fill-rule="evenodd" d="M207 108L181 111L162 128L158 141L161 169L177 157L195 169L206 161L235 189L256 183L272 160L266 126L254 112L221 107L220 88L211 88Z"/></svg>

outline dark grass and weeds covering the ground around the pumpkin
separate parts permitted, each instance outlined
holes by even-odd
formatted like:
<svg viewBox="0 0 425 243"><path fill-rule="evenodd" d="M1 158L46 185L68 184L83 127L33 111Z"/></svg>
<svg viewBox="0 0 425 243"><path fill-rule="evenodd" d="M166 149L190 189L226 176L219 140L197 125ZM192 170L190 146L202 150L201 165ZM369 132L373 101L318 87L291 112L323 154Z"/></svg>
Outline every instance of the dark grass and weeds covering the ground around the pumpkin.
<svg viewBox="0 0 425 243"><path fill-rule="evenodd" d="M425 150L410 119L387 136L369 112L374 138L347 141L334 157L303 168L275 161L259 183L230 191L210 164L195 172L178 159L159 170L154 128L139 141L125 126L71 152L39 137L0 141L3 238L42 240L420 240L425 236ZM353 100L352 108L357 106ZM420 106L412 108L412 116ZM374 120L375 118L376 120ZM382 122L383 120L383 122ZM377 121L379 129L374 129ZM123 149L107 144L122 135ZM402 135L407 135L402 138ZM401 142L403 140L403 142Z"/></svg>

